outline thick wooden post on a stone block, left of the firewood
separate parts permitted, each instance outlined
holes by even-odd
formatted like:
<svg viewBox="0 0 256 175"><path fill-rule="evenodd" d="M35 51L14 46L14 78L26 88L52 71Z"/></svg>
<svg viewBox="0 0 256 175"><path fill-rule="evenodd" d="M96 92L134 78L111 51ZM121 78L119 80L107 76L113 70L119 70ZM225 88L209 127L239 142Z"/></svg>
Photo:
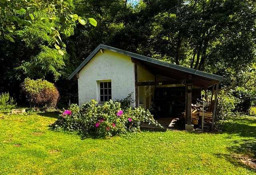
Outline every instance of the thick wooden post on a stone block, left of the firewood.
<svg viewBox="0 0 256 175"><path fill-rule="evenodd" d="M185 122L188 125L192 124L192 111L191 111L191 103L192 103L192 84L186 84L186 117Z"/></svg>

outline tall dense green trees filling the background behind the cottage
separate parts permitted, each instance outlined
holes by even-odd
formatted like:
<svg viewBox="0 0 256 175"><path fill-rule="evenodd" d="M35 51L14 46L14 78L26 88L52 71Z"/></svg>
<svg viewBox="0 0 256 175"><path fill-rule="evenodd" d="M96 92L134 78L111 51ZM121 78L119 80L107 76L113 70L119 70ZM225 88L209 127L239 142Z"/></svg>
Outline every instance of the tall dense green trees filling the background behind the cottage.
<svg viewBox="0 0 256 175"><path fill-rule="evenodd" d="M0 0L0 92L24 101L20 83L43 78L56 82L62 105L75 103L77 85L68 75L98 44L107 44L224 76L220 87L228 91L255 93L255 1L132 2Z"/></svg>

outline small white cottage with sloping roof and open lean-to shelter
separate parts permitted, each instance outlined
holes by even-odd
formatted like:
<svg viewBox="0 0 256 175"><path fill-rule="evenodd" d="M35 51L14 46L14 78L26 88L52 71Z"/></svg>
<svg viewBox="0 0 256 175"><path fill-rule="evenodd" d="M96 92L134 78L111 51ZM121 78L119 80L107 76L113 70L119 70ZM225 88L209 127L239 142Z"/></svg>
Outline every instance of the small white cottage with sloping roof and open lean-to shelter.
<svg viewBox="0 0 256 175"><path fill-rule="evenodd" d="M91 99L99 103L124 99L133 92L136 102L132 106L153 106L156 115L162 116L177 116L186 111L186 122L190 124L191 103L200 98L202 89L213 86L218 92L223 79L102 44L69 79L73 77L78 80L79 105Z"/></svg>

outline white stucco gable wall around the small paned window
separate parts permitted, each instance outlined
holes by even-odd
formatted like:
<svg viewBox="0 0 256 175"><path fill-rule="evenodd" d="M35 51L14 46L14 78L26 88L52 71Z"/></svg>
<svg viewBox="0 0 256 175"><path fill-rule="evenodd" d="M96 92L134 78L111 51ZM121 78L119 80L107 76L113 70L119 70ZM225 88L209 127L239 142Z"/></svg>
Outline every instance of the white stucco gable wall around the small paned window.
<svg viewBox="0 0 256 175"><path fill-rule="evenodd" d="M109 50L98 52L79 72L79 105L91 99L99 101L98 86L102 80L111 80L113 100L124 99L131 92L135 99L134 64L129 56Z"/></svg>

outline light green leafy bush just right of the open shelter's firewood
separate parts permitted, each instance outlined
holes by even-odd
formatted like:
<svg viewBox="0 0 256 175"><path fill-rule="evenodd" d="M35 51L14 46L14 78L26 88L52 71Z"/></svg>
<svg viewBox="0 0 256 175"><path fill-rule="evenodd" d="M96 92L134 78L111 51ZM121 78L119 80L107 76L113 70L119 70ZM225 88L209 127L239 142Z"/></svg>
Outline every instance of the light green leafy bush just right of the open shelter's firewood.
<svg viewBox="0 0 256 175"><path fill-rule="evenodd" d="M220 90L218 95L218 117L221 120L229 119L232 116L237 103L236 97L230 91Z"/></svg>

